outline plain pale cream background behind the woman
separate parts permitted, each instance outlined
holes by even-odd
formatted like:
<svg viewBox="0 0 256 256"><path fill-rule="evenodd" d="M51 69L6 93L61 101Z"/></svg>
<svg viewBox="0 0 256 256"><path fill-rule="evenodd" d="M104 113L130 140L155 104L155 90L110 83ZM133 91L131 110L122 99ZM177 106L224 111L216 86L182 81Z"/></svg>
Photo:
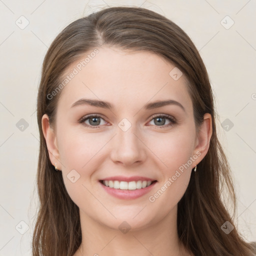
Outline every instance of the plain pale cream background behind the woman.
<svg viewBox="0 0 256 256"><path fill-rule="evenodd" d="M106 5L151 9L191 37L216 98L219 139L237 194L234 221L245 239L256 240L256 1L0 0L0 256L31 255L39 149L35 111L43 57L66 25ZM27 124L20 130L22 118ZM28 225L24 234L20 221Z"/></svg>

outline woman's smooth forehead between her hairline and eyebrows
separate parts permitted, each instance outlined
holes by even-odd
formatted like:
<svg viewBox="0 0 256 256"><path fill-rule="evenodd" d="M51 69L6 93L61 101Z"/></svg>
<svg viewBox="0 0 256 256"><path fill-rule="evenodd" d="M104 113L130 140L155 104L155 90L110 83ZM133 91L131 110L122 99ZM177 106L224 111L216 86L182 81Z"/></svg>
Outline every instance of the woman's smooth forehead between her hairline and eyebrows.
<svg viewBox="0 0 256 256"><path fill-rule="evenodd" d="M97 50L96 54L91 54L93 49L84 53L66 70L63 79L67 82L62 88L59 106L67 109L86 97L110 101L116 108L138 107L163 99L192 107L185 75L180 76L179 69L163 57L149 51L106 46Z"/></svg>

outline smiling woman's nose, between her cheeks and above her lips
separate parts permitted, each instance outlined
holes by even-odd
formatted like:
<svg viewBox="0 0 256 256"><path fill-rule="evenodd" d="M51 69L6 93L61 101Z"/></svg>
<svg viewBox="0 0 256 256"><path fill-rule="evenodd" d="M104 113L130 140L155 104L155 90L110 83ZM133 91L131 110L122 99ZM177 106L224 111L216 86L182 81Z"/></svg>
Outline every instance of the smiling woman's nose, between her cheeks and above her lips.
<svg viewBox="0 0 256 256"><path fill-rule="evenodd" d="M117 126L111 144L110 158L113 162L123 166L141 164L146 158L145 150L142 136L136 132L133 125L126 131Z"/></svg>

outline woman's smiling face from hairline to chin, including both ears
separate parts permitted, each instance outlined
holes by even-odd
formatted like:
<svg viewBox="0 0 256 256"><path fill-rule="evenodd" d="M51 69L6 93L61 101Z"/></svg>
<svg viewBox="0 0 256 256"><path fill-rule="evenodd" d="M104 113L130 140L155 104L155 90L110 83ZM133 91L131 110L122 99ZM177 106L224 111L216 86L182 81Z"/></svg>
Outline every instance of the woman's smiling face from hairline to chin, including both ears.
<svg viewBox="0 0 256 256"><path fill-rule="evenodd" d="M158 55L100 47L80 67L86 56L66 72L78 71L61 91L55 130L42 118L51 162L80 217L139 229L174 216L207 152L211 119L196 135L186 77Z"/></svg>

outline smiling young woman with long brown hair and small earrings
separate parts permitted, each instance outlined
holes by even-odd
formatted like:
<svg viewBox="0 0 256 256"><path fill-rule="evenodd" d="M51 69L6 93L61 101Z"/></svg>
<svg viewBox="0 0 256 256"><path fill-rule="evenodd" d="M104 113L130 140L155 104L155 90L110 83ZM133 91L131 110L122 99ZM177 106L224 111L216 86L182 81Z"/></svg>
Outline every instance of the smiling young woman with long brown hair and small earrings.
<svg viewBox="0 0 256 256"><path fill-rule="evenodd" d="M144 8L69 24L37 97L36 255L253 255L207 71L186 33ZM254 250L255 252L255 250Z"/></svg>

